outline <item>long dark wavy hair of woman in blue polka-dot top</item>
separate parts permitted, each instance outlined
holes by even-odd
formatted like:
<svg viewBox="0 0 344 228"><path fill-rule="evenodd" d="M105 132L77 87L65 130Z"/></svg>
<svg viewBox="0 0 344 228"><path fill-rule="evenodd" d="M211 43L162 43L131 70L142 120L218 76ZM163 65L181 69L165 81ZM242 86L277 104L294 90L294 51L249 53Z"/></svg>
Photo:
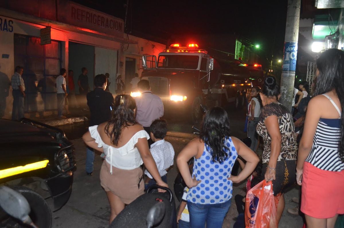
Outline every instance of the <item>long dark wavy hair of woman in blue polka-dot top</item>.
<svg viewBox="0 0 344 228"><path fill-rule="evenodd" d="M200 138L212 149L213 162L222 163L227 159L227 150L230 148L225 145L226 137L230 136L229 118L227 112L222 107L213 107L205 114ZM206 146L206 150L211 151ZM229 153L229 156L232 154Z"/></svg>

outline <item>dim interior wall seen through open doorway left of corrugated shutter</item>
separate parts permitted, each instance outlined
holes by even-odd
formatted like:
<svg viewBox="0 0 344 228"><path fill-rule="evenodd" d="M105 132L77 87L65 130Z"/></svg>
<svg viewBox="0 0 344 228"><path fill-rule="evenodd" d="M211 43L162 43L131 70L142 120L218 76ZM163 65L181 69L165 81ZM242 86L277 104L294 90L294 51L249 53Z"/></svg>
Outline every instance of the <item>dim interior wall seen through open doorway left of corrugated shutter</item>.
<svg viewBox="0 0 344 228"><path fill-rule="evenodd" d="M75 92L79 93L78 77L82 73L81 68L87 68L88 84L93 90L94 79L94 46L69 42L69 70L74 71Z"/></svg>

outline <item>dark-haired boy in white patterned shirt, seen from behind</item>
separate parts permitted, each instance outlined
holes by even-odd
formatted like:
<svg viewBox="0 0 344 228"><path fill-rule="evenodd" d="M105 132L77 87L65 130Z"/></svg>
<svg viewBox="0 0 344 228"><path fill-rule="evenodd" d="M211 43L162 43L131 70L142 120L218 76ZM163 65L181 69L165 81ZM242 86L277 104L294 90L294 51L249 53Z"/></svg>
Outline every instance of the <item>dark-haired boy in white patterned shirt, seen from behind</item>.
<svg viewBox="0 0 344 228"><path fill-rule="evenodd" d="M154 120L150 126L150 137L154 142L151 145L150 151L152 157L157 164L157 168L161 179L167 183L167 172L173 167L174 159L174 149L171 143L165 141L165 136L167 133L167 122L165 120ZM156 184L152 175L148 170L144 171L144 174L147 175L145 180L145 190L150 186Z"/></svg>

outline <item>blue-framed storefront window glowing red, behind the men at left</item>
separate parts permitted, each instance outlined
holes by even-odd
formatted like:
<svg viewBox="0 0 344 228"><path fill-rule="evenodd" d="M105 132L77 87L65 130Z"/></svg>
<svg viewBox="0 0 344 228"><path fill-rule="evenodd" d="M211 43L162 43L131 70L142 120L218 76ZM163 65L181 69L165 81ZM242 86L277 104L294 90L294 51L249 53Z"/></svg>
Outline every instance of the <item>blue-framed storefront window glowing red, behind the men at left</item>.
<svg viewBox="0 0 344 228"><path fill-rule="evenodd" d="M24 67L25 111L56 109L55 79L61 68L61 42L14 34L14 65Z"/></svg>

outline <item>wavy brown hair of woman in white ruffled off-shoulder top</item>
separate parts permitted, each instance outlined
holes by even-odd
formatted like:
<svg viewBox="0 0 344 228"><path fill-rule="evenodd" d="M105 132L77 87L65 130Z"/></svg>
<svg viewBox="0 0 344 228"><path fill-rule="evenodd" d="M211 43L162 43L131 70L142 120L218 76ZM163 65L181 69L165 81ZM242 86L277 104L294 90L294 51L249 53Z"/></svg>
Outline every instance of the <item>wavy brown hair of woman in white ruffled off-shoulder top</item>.
<svg viewBox="0 0 344 228"><path fill-rule="evenodd" d="M135 108L135 100L130 95L121 94L115 97L114 113L105 126L105 133L110 137L112 144L118 145L123 127L137 124Z"/></svg>

